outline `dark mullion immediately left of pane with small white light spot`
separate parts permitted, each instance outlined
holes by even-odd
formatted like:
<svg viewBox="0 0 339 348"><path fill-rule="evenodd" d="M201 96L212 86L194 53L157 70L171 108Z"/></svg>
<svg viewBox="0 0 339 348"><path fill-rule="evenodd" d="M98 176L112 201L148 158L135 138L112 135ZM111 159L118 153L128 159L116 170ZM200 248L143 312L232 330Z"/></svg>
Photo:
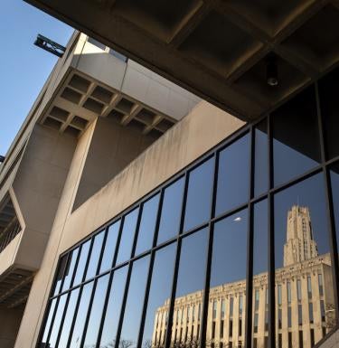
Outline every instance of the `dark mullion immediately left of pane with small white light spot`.
<svg viewBox="0 0 339 348"><path fill-rule="evenodd" d="M212 193L211 193L211 209L210 209L210 221L208 224L208 240L206 246L206 265L205 265L205 279L204 279L204 288L202 295L202 317L200 320L200 343L199 347L203 348L206 345L206 332L207 332L207 319L208 319L208 305L209 305L209 296L210 296L210 281L211 281L211 265L212 265L212 248L213 248L213 230L214 222L212 218L215 214L215 205L216 205L216 196L217 196L217 187L218 187L218 174L219 174L219 158L220 151L215 151L214 155L214 168L212 175Z"/></svg>

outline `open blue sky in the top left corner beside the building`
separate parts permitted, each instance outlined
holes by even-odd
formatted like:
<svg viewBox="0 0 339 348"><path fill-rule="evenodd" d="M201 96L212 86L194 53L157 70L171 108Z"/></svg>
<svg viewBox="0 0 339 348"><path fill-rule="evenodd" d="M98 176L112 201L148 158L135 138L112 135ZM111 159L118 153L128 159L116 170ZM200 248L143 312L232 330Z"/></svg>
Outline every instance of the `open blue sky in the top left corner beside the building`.
<svg viewBox="0 0 339 348"><path fill-rule="evenodd" d="M0 155L5 155L58 59L33 45L36 35L65 45L72 32L23 0L0 1Z"/></svg>

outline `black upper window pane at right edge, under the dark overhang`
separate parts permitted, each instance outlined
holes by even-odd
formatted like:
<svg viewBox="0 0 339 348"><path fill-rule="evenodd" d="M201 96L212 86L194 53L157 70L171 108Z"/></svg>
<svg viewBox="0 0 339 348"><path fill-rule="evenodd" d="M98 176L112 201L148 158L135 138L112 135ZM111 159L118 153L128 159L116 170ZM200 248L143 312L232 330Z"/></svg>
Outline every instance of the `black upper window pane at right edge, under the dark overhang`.
<svg viewBox="0 0 339 348"><path fill-rule="evenodd" d="M338 80L339 69L336 69L319 81L320 107L325 124L325 146L328 159L339 155Z"/></svg>

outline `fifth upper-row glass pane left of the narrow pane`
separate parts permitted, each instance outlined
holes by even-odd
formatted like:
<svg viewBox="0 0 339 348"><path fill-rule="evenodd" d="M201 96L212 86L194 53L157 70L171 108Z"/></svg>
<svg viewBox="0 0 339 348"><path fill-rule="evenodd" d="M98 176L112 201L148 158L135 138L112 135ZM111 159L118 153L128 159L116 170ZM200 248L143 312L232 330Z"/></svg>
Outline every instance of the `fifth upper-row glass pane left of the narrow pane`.
<svg viewBox="0 0 339 348"><path fill-rule="evenodd" d="M137 228L137 214L139 209L129 212L124 219L124 226L122 228L121 240L118 246L117 265L121 262L130 259L132 253L132 246L134 236Z"/></svg>

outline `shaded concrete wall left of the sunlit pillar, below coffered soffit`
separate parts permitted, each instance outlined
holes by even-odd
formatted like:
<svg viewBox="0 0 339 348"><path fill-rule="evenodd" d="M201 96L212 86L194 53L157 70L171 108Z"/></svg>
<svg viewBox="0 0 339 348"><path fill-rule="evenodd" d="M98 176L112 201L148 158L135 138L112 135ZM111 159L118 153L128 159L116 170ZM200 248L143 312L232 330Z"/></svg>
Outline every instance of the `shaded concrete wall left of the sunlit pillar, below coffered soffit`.
<svg viewBox="0 0 339 348"><path fill-rule="evenodd" d="M24 220L14 259L19 266L40 267L75 146L71 136L40 125L33 129L13 183L14 207Z"/></svg>

